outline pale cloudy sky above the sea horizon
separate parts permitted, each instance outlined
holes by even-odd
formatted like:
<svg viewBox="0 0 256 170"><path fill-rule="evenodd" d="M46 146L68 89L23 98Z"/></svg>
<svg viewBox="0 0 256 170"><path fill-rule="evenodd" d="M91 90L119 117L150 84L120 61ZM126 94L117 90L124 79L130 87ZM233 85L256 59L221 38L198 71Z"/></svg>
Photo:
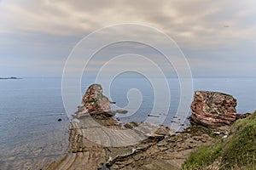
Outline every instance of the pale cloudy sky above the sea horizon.
<svg viewBox="0 0 256 170"><path fill-rule="evenodd" d="M256 77L254 0L1 0L0 77L61 77L78 42L122 23L154 27L171 37L193 77ZM146 46L123 42L99 53L86 71L95 75L109 56L131 52L161 58ZM106 73L127 65L130 58L125 57ZM143 62L131 60L130 65L154 72ZM160 68L173 75L172 65L162 61Z"/></svg>

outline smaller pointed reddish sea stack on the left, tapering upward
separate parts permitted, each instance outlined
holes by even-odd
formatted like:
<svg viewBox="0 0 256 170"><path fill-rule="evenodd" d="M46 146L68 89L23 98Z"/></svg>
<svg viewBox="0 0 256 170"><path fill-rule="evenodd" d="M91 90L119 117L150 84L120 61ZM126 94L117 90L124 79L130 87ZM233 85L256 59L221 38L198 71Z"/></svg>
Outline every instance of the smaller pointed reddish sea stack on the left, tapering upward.
<svg viewBox="0 0 256 170"><path fill-rule="evenodd" d="M110 111L110 101L102 94L102 86L100 84L90 85L84 94L82 103L89 113Z"/></svg>

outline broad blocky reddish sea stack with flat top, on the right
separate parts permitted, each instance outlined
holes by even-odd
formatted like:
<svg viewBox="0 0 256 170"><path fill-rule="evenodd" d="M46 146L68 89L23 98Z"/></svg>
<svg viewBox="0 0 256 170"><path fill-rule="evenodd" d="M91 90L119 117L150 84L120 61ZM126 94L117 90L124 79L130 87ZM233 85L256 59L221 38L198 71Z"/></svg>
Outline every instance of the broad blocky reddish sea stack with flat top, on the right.
<svg viewBox="0 0 256 170"><path fill-rule="evenodd" d="M195 91L190 108L192 124L220 127L236 121L236 99L229 94Z"/></svg>

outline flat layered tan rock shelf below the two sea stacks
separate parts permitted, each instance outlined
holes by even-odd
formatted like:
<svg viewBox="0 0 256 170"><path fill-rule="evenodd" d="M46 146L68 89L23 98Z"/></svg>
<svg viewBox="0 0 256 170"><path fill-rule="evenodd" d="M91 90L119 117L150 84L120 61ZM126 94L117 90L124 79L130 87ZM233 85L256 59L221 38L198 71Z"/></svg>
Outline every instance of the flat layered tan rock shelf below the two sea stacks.
<svg viewBox="0 0 256 170"><path fill-rule="evenodd" d="M73 119L69 153L44 169L179 169L195 147L212 141L213 134L206 127L166 135L165 127L155 131L147 123L123 129L116 122L104 127L102 120L96 121L90 115Z"/></svg>

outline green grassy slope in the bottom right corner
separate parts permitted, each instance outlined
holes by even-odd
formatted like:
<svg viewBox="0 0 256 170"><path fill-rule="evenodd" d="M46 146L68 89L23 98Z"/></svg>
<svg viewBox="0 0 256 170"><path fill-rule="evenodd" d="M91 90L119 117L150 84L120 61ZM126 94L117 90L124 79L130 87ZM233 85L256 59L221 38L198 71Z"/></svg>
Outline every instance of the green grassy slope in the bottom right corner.
<svg viewBox="0 0 256 170"><path fill-rule="evenodd" d="M236 121L227 139L191 153L183 169L256 169L256 111Z"/></svg>

